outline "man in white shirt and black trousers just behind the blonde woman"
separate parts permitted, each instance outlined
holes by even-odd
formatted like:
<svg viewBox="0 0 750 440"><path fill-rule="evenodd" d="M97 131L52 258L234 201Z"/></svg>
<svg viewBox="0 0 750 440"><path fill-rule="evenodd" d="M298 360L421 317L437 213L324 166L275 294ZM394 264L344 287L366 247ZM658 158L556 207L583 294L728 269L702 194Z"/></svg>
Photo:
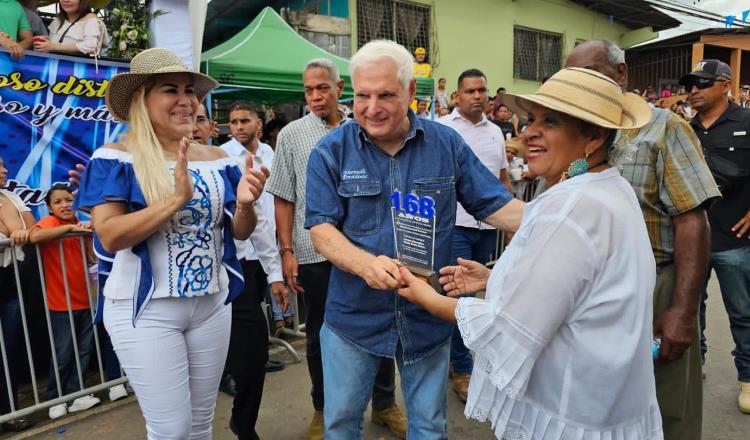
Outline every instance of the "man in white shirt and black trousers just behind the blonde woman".
<svg viewBox="0 0 750 440"><path fill-rule="evenodd" d="M233 103L229 109L233 139L220 148L243 162L248 154L252 154L255 167L264 165L270 169L273 150L258 140L259 124L258 113L250 103ZM261 302L268 284L282 309L286 310L288 306L281 257L276 245L273 196L264 192L258 199L256 211L260 211L258 224L250 238L242 242L235 240L245 290L232 303L232 335L226 370L235 381L230 427L239 438L258 438L255 422L268 361L268 328Z"/></svg>

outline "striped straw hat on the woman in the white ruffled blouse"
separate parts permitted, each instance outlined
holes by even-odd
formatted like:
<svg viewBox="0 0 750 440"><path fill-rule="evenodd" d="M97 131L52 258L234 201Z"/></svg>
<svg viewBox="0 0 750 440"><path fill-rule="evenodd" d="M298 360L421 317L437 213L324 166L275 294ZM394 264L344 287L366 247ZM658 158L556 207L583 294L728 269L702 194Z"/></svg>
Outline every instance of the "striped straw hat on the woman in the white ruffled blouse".
<svg viewBox="0 0 750 440"><path fill-rule="evenodd" d="M604 128L639 128L651 119L643 98L623 93L609 77L579 67L558 71L533 95L507 94L503 102L524 113L531 103L538 104Z"/></svg>

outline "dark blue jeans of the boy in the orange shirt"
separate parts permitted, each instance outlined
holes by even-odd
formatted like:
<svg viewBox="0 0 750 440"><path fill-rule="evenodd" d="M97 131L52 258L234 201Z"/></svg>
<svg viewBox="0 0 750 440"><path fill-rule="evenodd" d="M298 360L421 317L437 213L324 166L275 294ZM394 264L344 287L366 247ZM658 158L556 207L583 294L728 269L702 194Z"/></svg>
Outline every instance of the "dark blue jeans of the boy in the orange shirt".
<svg viewBox="0 0 750 440"><path fill-rule="evenodd" d="M81 364L81 376L86 379L86 370L94 348L94 327L92 324L91 311L73 311L73 329L71 329L68 312L49 312L52 333L55 337L55 353L57 354L57 367L60 373L60 387L63 395L82 390L83 386L78 380L78 368L76 366L75 351L73 350L73 331L75 331L76 344L78 345L78 359ZM50 359L49 382L47 384L47 400L58 397L57 379L55 378L55 364Z"/></svg>

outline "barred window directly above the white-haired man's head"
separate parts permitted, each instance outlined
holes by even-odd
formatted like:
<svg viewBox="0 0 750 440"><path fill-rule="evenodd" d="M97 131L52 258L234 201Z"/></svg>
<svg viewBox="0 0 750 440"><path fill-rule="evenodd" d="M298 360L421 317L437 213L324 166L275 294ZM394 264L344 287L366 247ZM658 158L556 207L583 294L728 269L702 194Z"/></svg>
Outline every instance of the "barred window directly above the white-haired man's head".
<svg viewBox="0 0 750 440"><path fill-rule="evenodd" d="M357 47L385 38L404 45L411 53L424 47L429 63L431 14L428 5L397 0L357 0Z"/></svg>

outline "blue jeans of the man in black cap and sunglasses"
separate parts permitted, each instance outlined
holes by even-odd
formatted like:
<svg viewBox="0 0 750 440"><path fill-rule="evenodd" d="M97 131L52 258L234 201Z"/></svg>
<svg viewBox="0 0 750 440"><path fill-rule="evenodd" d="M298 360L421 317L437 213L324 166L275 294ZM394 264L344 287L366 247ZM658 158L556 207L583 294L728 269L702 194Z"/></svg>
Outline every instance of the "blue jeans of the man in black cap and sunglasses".
<svg viewBox="0 0 750 440"><path fill-rule="evenodd" d="M750 382L750 246L711 252L711 267L729 316L738 379Z"/></svg>

